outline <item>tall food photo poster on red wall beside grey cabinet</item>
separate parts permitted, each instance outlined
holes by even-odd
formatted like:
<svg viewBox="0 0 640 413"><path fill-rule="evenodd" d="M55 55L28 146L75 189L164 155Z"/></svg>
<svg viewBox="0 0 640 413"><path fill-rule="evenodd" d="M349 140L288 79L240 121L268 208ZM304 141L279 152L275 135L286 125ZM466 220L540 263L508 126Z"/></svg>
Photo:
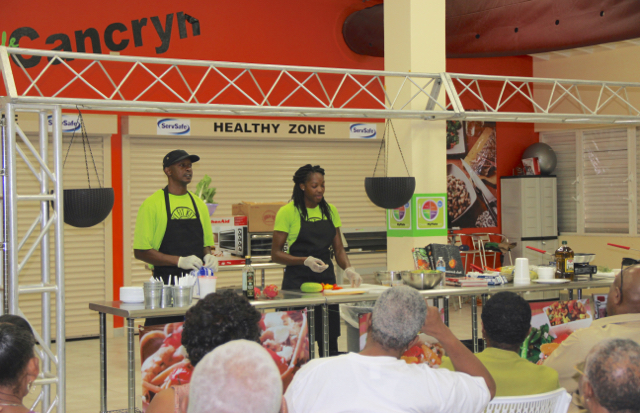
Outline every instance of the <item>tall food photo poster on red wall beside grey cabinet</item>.
<svg viewBox="0 0 640 413"><path fill-rule="evenodd" d="M449 227L496 227L496 123L447 121Z"/></svg>

